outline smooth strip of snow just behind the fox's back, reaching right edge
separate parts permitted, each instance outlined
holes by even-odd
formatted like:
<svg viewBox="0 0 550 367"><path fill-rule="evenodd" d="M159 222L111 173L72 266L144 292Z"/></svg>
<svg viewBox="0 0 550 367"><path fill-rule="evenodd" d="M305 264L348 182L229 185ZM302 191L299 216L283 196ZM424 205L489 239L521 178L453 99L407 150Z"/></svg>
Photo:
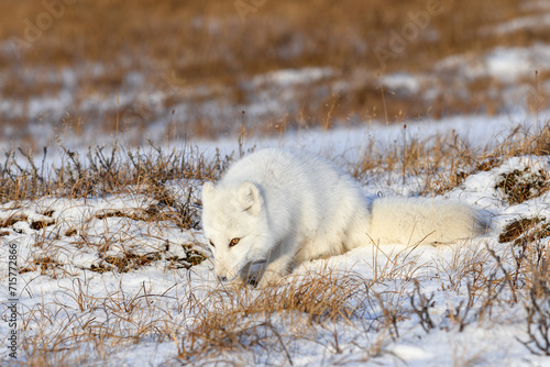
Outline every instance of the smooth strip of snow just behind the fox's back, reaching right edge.
<svg viewBox="0 0 550 367"><path fill-rule="evenodd" d="M438 136L457 134L472 148L494 147L509 136L510 131L519 127L521 131L532 131L540 126L540 121L550 119L550 110L541 111L537 116L517 113L480 116L460 115L441 120L426 119L422 121L408 121L404 124L385 124L378 122L365 123L362 126L336 127L328 131L298 130L290 131L280 137L253 137L244 138L244 149L283 147L290 149L306 149L308 152L329 156L345 167L353 167L358 157L361 157L369 145L374 145L376 152L387 152L394 143L402 143L404 138L410 141L418 138L427 141ZM200 152L206 156L216 154L230 155L239 146L235 138L220 138L212 144L211 141L194 140Z"/></svg>

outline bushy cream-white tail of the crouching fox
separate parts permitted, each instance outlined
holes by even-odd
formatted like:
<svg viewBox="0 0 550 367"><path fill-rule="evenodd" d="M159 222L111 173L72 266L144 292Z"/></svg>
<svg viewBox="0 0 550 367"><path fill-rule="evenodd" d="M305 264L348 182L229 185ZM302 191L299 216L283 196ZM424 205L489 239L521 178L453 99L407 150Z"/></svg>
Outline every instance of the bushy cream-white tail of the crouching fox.
<svg viewBox="0 0 550 367"><path fill-rule="evenodd" d="M382 198L372 204L371 236L376 243L450 243L475 237L487 221L453 201L421 198Z"/></svg>

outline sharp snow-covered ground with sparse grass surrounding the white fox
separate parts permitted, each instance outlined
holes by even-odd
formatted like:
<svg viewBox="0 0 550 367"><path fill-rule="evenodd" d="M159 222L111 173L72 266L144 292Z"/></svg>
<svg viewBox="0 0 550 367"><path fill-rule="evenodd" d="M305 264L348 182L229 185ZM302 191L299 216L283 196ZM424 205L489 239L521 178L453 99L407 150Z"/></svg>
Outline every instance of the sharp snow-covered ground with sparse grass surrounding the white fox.
<svg viewBox="0 0 550 367"><path fill-rule="evenodd" d="M292 78L286 82L293 82ZM454 133L475 149L498 144L518 125L540 129L549 116L463 116L409 122L406 129L372 124L355 130L306 130L246 141L244 148L308 149L350 168L365 142L373 141L383 151L404 138ZM195 144L207 157L217 147L226 153L238 149L234 140ZM146 194L132 193L131 188L103 198L8 202L0 207L0 318L10 319L6 300L14 298L8 292L4 262L12 244L20 271L15 298L18 362L22 364L548 366L547 356L530 353L521 343L530 338L525 307L529 304L529 273L517 276L516 287L503 280L514 274L520 246L501 243L499 234L506 224L522 218L548 224L550 198L542 192L509 204L497 186L503 175L515 171L525 179L542 177L548 182L549 170L548 156L509 157L444 193L444 198L490 213L493 226L482 237L441 246L366 244L300 265L284 287L305 282L314 289L316 282L307 282L311 277L332 279L329 283L337 287L337 294L356 287L342 303L350 313L343 309L340 318L317 321L308 319L306 311L243 312L266 297L263 291L252 287L223 291L200 227L184 229L169 215L153 220L165 208ZM400 179L369 181L364 190L367 194L417 194L416 181L416 177L405 184ZM189 188L198 192L198 186L184 180L167 187L185 201ZM194 193L196 219L200 213L197 200ZM548 240L535 243L547 256ZM202 256L207 259L193 265ZM546 302L541 300L543 310ZM205 315L228 318L220 321L228 325L237 315L223 336L227 340L204 336L213 332L200 329ZM8 322L0 322L3 345L10 330ZM201 347L209 352L193 354ZM14 364L9 353L2 347L0 358Z"/></svg>

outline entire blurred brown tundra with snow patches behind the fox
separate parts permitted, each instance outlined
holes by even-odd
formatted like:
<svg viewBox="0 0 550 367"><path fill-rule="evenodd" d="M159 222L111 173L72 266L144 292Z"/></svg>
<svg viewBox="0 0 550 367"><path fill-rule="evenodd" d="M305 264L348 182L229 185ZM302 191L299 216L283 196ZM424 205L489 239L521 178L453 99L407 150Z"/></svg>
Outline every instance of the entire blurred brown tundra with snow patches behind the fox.
<svg viewBox="0 0 550 367"><path fill-rule="evenodd" d="M537 113L548 0L2 0L0 146Z"/></svg>

